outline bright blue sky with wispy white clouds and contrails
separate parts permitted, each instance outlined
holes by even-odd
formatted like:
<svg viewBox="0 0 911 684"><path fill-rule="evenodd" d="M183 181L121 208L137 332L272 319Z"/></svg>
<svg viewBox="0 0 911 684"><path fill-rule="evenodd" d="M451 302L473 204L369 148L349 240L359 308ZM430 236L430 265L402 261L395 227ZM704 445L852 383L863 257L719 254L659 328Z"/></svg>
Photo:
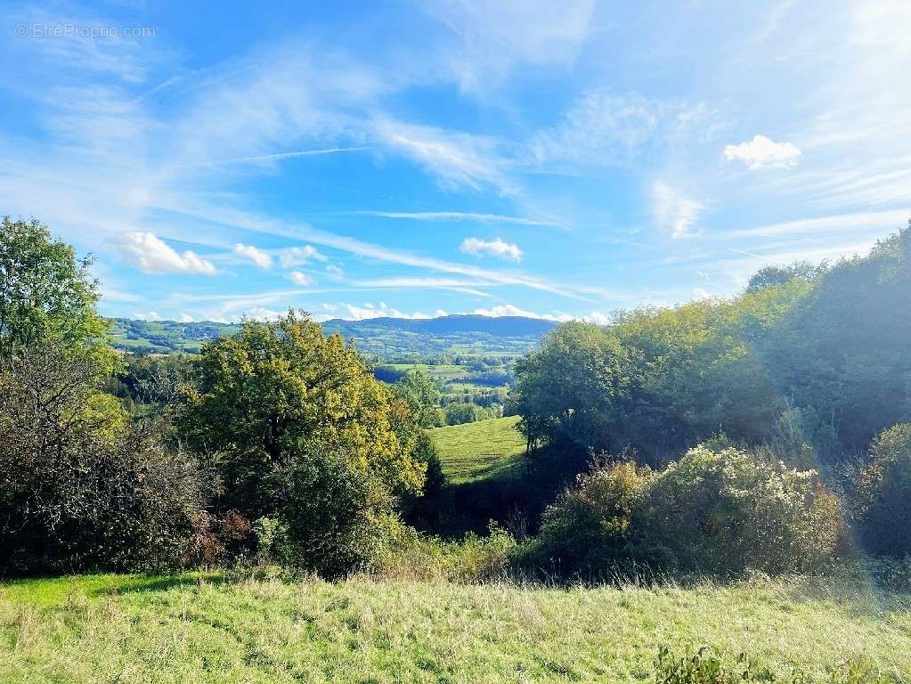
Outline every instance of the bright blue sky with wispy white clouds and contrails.
<svg viewBox="0 0 911 684"><path fill-rule="evenodd" d="M607 320L911 215L911 3L0 9L0 212L108 315Z"/></svg>

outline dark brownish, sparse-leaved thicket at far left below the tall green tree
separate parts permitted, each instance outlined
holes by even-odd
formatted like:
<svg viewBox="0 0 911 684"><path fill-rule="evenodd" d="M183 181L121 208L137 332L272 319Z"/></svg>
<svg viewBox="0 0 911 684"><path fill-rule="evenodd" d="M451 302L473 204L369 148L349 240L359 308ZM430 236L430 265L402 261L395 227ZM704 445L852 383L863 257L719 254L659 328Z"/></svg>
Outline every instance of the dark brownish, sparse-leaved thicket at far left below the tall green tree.
<svg viewBox="0 0 911 684"><path fill-rule="evenodd" d="M97 391L92 350L0 368L0 571L156 570L197 556L204 478Z"/></svg>

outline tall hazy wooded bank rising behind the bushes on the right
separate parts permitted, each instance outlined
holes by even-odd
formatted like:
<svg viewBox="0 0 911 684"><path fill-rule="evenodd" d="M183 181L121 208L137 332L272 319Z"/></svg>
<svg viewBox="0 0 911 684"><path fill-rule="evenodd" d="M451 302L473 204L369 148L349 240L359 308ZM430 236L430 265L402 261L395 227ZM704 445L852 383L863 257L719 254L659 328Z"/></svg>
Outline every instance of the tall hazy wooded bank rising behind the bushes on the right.
<svg viewBox="0 0 911 684"><path fill-rule="evenodd" d="M713 434L791 433L834 465L911 416L909 340L901 230L831 268L760 271L732 300L565 324L517 364L518 413L531 451L555 458L632 446L660 465Z"/></svg>

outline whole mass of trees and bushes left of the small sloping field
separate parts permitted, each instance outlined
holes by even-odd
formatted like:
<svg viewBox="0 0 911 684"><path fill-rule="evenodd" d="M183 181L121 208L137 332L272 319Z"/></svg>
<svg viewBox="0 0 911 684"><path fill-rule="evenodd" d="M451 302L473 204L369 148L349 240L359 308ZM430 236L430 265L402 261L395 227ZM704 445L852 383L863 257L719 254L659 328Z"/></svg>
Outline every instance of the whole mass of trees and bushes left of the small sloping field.
<svg viewBox="0 0 911 684"><path fill-rule="evenodd" d="M0 571L369 565L439 485L424 397L293 311L197 357L107 344L90 260L0 236Z"/></svg>

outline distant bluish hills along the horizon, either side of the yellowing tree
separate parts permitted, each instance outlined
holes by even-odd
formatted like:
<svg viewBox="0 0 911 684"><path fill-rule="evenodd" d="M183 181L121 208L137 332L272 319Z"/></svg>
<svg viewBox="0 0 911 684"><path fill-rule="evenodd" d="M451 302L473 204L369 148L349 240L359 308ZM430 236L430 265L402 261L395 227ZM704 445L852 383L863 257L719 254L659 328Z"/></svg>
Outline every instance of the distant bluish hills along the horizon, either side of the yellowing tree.
<svg viewBox="0 0 911 684"><path fill-rule="evenodd" d="M333 319L322 323L329 334L353 339L357 348L394 362L415 355L516 356L527 352L557 323L524 316L440 316L428 319ZM113 343L130 352L200 351L203 342L237 332L237 323L212 321L134 321L114 319Z"/></svg>

